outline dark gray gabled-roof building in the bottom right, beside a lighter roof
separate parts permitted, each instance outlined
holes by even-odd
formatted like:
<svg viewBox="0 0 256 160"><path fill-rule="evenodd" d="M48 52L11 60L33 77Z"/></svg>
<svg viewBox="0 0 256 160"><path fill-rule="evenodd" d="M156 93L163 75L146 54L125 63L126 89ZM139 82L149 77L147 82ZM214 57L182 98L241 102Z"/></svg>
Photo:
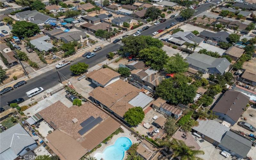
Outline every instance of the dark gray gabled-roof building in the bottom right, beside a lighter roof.
<svg viewBox="0 0 256 160"><path fill-rule="evenodd" d="M250 151L252 142L234 132L228 131L218 147L229 152L231 156L243 159Z"/></svg>

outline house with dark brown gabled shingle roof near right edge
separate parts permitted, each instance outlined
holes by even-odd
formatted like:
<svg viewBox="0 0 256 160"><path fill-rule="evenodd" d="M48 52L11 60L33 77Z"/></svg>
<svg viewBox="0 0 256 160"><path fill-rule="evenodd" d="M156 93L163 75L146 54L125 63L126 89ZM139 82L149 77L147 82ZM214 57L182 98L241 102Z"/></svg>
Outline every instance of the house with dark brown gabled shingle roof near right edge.
<svg viewBox="0 0 256 160"><path fill-rule="evenodd" d="M212 112L233 126L243 114L249 100L243 93L229 90L223 94Z"/></svg>

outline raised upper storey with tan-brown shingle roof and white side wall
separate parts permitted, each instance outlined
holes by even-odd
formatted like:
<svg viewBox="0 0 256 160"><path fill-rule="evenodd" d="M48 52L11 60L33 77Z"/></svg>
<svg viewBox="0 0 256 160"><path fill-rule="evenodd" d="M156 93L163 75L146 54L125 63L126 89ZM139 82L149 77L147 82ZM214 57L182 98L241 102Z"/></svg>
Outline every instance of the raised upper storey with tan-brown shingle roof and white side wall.
<svg viewBox="0 0 256 160"><path fill-rule="evenodd" d="M109 68L102 68L100 70L94 70L86 74L86 76L90 78L92 83L97 87L107 87L108 85L118 81L121 75Z"/></svg>

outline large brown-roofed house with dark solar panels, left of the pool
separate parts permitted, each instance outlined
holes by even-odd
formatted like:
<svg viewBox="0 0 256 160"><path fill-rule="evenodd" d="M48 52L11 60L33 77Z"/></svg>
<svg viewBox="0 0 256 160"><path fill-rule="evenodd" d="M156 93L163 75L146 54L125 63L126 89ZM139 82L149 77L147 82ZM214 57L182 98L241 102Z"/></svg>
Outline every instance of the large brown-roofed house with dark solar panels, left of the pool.
<svg viewBox="0 0 256 160"><path fill-rule="evenodd" d="M39 115L55 130L47 145L63 160L80 159L121 126L90 102L68 108L57 101Z"/></svg>

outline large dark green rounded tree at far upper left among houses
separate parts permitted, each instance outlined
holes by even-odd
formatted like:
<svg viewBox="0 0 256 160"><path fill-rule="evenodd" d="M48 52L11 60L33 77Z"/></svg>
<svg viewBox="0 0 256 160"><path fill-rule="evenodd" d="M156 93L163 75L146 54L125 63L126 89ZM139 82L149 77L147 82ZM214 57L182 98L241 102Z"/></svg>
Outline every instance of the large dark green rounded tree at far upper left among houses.
<svg viewBox="0 0 256 160"><path fill-rule="evenodd" d="M14 36L24 38L32 37L41 31L39 27L34 23L26 21L16 21L16 23L12 25L11 32L13 33Z"/></svg>

